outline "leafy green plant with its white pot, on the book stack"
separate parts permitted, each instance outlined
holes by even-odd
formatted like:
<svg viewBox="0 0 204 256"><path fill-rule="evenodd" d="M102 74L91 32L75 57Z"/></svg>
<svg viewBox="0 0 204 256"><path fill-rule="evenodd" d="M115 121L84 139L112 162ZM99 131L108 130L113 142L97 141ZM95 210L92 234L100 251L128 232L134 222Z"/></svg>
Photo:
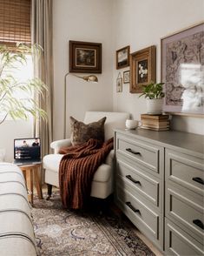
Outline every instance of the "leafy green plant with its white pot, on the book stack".
<svg viewBox="0 0 204 256"><path fill-rule="evenodd" d="M148 114L161 114L163 98L165 96L162 88L163 84L164 83L151 83L144 85L143 93L140 95L140 97L144 95L147 99Z"/></svg>

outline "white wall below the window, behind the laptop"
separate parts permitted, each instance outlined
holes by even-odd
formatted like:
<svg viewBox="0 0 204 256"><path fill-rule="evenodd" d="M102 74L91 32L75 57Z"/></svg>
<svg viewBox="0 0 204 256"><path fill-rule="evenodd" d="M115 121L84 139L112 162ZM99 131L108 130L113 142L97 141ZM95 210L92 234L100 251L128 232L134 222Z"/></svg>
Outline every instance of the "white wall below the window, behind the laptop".
<svg viewBox="0 0 204 256"><path fill-rule="evenodd" d="M5 150L5 161L12 162L14 153L14 138L32 137L31 121L5 121L0 125L0 149Z"/></svg>

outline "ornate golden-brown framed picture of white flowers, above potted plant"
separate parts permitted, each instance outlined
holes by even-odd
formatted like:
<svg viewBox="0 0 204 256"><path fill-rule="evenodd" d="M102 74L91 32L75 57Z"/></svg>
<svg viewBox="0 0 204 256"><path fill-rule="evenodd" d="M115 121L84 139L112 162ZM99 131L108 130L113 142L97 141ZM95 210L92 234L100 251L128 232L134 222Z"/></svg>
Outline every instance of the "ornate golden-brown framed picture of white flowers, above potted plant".
<svg viewBox="0 0 204 256"><path fill-rule="evenodd" d="M130 92L141 93L143 85L155 83L155 59L155 45L130 55Z"/></svg>

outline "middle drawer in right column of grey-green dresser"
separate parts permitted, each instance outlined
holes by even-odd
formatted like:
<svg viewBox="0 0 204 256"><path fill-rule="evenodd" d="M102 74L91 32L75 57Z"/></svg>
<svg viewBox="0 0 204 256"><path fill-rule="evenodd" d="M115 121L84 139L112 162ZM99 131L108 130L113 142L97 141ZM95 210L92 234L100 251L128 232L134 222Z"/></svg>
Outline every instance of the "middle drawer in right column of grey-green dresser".
<svg viewBox="0 0 204 256"><path fill-rule="evenodd" d="M166 185L166 217L194 233L201 243L204 240L203 199L193 192L181 191L179 186Z"/></svg>

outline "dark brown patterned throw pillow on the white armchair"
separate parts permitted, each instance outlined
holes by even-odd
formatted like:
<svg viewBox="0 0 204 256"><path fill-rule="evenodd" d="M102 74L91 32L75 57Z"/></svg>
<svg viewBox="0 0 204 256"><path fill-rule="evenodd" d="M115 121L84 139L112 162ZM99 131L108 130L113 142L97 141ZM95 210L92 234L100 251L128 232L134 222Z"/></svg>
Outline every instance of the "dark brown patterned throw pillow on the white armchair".
<svg viewBox="0 0 204 256"><path fill-rule="evenodd" d="M106 117L98 120L97 122L86 125L77 121L75 118L70 117L72 145L81 145L87 142L90 138L104 141L105 121Z"/></svg>

